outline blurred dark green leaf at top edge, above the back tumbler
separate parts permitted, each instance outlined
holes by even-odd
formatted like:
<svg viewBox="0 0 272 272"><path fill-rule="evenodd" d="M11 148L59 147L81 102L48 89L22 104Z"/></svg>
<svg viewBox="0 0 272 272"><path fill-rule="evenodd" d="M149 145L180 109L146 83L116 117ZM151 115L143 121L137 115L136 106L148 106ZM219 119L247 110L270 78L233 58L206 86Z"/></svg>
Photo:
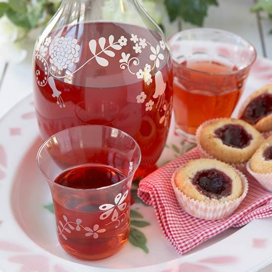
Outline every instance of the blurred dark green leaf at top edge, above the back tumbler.
<svg viewBox="0 0 272 272"><path fill-rule="evenodd" d="M172 22L180 17L198 26L203 25L209 6L218 6L217 0L165 0L165 4Z"/></svg>

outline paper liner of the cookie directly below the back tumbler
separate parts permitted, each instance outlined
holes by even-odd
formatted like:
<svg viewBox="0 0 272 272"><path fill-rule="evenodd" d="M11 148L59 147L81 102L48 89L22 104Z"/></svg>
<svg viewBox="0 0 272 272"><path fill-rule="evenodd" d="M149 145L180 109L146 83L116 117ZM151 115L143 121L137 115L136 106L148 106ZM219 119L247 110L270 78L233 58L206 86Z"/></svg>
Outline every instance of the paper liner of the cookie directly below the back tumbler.
<svg viewBox="0 0 272 272"><path fill-rule="evenodd" d="M205 126L207 126L207 125L209 125L209 124L211 124L211 123L213 123L213 122L215 122L215 121L219 121L219 120L227 120L227 119L228 119L228 118L214 118L214 119L210 119L210 120L207 120L207 121L205 121L204 123L202 123L202 124L197 128L196 133L195 133L195 142L196 142L196 145L197 145L198 150L199 150L199 156L200 156L201 158L214 158L214 159L220 160L220 159L215 158L214 156L208 154L208 153L202 148L202 146L201 146L201 144L200 144L200 133L201 133L202 129L203 129ZM222 160L221 160L221 161L222 161ZM223 161L223 162L227 163L226 161ZM228 164L229 164L229 165L232 165L233 167L235 167L235 168L237 168L238 170L240 170L240 171L243 172L243 171L246 169L246 164L247 164L247 163L245 162L245 163L228 163Z"/></svg>

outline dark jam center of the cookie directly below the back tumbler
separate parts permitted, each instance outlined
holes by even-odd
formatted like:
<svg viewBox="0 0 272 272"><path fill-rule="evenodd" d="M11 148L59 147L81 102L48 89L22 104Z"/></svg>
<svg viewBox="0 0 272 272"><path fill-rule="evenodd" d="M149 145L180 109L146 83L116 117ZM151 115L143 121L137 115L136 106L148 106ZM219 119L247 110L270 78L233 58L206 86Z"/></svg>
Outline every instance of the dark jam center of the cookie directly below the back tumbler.
<svg viewBox="0 0 272 272"><path fill-rule="evenodd" d="M215 135L222 140L225 145L244 148L250 144L252 136L240 125L228 124L215 130Z"/></svg>

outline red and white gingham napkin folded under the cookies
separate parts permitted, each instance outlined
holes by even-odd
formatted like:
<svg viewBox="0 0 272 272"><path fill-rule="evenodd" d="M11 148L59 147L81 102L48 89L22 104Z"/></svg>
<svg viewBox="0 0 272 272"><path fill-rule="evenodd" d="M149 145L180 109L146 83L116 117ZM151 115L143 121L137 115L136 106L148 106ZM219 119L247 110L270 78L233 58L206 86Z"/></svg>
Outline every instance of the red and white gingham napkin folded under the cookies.
<svg viewBox="0 0 272 272"><path fill-rule="evenodd" d="M185 213L171 185L174 171L184 163L199 158L198 149L186 153L140 181L138 196L154 207L164 235L179 254L230 227L241 227L253 219L272 216L272 193L264 190L250 175L249 192L231 216L220 220L204 220Z"/></svg>

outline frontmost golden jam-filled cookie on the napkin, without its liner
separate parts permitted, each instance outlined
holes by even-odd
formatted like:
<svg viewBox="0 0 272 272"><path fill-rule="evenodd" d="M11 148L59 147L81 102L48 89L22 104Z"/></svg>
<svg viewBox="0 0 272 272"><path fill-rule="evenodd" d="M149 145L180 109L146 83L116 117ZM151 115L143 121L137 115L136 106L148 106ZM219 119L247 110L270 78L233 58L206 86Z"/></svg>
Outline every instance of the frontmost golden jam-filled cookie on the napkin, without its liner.
<svg viewBox="0 0 272 272"><path fill-rule="evenodd" d="M180 168L176 187L187 197L204 202L226 202L243 193L240 176L233 167L215 159L196 159Z"/></svg>

